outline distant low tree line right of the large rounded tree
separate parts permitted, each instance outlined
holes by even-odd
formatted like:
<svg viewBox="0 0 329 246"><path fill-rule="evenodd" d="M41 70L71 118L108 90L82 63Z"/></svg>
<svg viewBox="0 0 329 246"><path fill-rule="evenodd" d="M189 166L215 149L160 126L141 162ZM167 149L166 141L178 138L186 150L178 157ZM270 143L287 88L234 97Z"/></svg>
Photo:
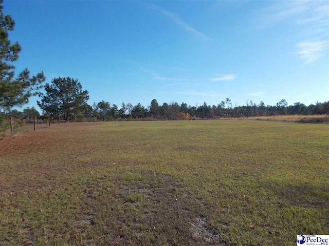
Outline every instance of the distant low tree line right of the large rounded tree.
<svg viewBox="0 0 329 246"><path fill-rule="evenodd" d="M229 99L229 98L227 98ZM325 103L317 103L316 105L306 106L301 103L295 103L287 106L283 99L275 106L267 105L261 101L256 105L248 103L246 106L236 106L232 108L225 106L225 102L218 105L208 105L206 102L200 106L188 106L186 103L163 103L159 105L156 99L151 101L150 106L145 108L141 104L133 106L130 103L110 105L108 102L101 101L94 103L93 106L87 106L84 110L84 119L87 120L118 120L118 119L159 119L159 120L181 120L181 119L216 119L221 117L237 118L237 117L254 117L254 116L270 116L270 115L312 115L312 114L328 114L329 101Z"/></svg>

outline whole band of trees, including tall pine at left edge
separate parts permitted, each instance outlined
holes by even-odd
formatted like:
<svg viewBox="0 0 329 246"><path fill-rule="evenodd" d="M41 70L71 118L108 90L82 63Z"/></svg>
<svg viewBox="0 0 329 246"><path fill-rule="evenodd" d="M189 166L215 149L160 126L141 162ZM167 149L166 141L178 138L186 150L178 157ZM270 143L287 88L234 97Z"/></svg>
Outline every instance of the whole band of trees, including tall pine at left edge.
<svg viewBox="0 0 329 246"><path fill-rule="evenodd" d="M21 46L19 43L11 44L9 31L14 29L15 22L10 15L3 14L3 1L0 0L0 127L6 116L31 119L56 117L65 121L107 121L118 119L160 119L160 120L187 120L210 119L220 117L252 117L266 115L287 114L328 114L329 101L306 106L295 103L288 106L285 99L275 106L267 105L261 101L254 104L247 101L246 106L232 107L231 100L226 98L217 105L208 105L206 102L200 106L188 106L186 103L163 103L159 105L156 99L150 106L144 107L140 103L133 106L131 103L122 103L120 107L100 101L92 106L87 104L88 91L82 90L78 79L70 77L53 78L51 83L44 86L45 93L39 92L45 81L43 72L30 76L28 69L23 70L15 77L13 61L19 58ZM22 106L28 103L30 96L39 95L38 106L43 110L43 116L35 108L26 108L23 112L11 110L13 106Z"/></svg>

